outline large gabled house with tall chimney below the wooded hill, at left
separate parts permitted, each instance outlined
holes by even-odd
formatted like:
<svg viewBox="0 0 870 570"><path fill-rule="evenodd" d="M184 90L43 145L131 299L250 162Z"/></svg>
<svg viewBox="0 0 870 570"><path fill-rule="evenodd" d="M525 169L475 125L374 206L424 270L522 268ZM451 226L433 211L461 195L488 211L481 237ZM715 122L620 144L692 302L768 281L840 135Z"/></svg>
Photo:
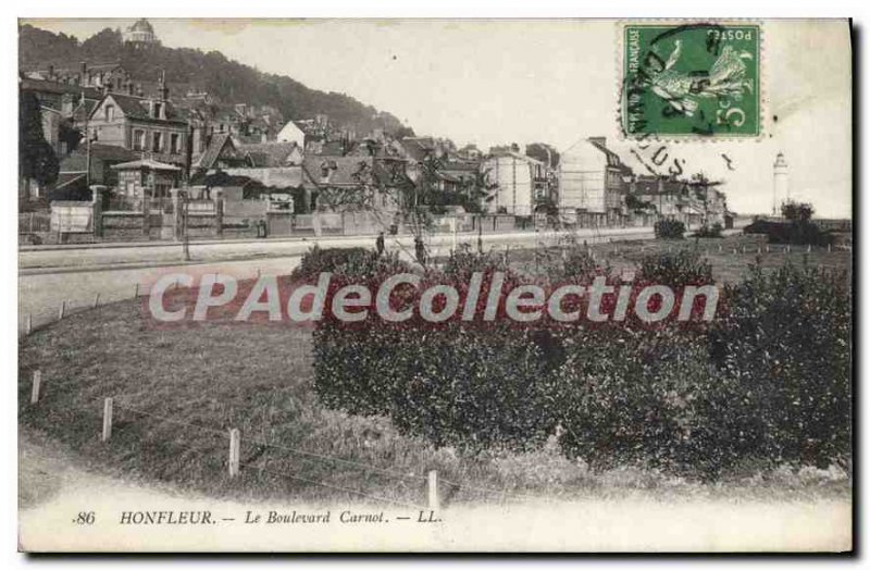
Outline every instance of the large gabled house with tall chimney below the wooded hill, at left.
<svg viewBox="0 0 870 570"><path fill-rule="evenodd" d="M188 127L161 82L156 97L108 94L90 114L91 140L140 152L154 161L185 165Z"/></svg>

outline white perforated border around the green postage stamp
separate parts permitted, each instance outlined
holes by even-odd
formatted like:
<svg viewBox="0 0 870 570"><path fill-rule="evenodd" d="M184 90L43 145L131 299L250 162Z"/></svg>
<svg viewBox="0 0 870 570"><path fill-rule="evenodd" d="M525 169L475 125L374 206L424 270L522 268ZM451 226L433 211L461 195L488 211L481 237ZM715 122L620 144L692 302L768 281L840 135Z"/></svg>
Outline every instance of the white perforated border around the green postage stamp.
<svg viewBox="0 0 870 570"><path fill-rule="evenodd" d="M687 134L672 134L672 133L641 133L630 134L623 126L623 95L625 88L624 64L625 64L625 28L631 25L673 25L684 26L687 24L710 24L710 25L732 25L758 26L758 132L751 135L734 135L728 133L716 133L712 135L687 133ZM765 26L763 22L757 18L631 18L631 20L617 20L613 24L613 39L614 39L614 90L613 97L616 99L616 108L613 119L617 127L617 138L621 141L632 140L659 140L663 142L723 142L723 141L744 141L759 142L765 139L766 133L770 132L768 121L769 113L766 112L769 103L767 94L767 49L765 46Z"/></svg>

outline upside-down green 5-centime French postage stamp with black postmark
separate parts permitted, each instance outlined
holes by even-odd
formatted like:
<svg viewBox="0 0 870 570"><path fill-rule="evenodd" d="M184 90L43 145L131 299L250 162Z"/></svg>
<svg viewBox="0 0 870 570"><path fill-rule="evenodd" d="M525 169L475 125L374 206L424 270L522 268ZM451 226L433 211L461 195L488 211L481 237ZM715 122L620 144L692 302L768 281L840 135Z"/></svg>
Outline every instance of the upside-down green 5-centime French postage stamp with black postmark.
<svg viewBox="0 0 870 570"><path fill-rule="evenodd" d="M761 134L759 24L623 24L627 138Z"/></svg>

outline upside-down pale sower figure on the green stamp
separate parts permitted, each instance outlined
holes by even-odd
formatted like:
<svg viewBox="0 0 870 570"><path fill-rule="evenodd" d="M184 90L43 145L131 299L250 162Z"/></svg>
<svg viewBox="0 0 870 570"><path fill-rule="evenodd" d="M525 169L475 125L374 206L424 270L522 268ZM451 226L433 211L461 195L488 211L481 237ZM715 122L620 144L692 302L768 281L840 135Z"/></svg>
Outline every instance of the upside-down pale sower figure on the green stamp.
<svg viewBox="0 0 870 570"><path fill-rule="evenodd" d="M725 46L722 53L713 62L708 74L696 76L674 70L680 59L682 41L674 40L674 49L662 70L650 70L649 84L652 91L668 101L678 112L693 116L698 108L697 98L720 96L737 97L744 90L753 91L753 83L745 78L746 63L753 54L748 51L737 52Z"/></svg>

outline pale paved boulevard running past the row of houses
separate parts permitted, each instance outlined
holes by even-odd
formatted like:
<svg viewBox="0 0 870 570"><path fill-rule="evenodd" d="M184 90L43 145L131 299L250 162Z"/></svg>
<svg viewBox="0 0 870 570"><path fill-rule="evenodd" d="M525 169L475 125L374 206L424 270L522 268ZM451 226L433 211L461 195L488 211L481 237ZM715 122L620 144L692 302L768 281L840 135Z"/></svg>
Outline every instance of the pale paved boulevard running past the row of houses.
<svg viewBox="0 0 870 570"><path fill-rule="evenodd" d="M610 239L641 239L652 237L651 228L618 228L601 232L581 231L577 239L588 243ZM512 233L484 235L484 248L535 247L555 244L560 234ZM475 245L476 234L461 234L458 243ZM287 274L299 262L300 256L315 243L321 247L373 247L373 237L335 237L286 240L247 240L229 243L196 243L190 246L192 263L181 261L182 248L177 244L147 246L54 246L26 247L18 256L18 321L20 331L26 329L29 317L34 326L47 324L58 318L61 303L66 310L88 307L95 296L100 302L132 298L144 294L157 276L173 270L209 273L228 272L239 278L261 274ZM432 255L446 255L453 245L452 235L432 239ZM410 259L413 241L410 237L390 239L387 249L398 250Z"/></svg>

